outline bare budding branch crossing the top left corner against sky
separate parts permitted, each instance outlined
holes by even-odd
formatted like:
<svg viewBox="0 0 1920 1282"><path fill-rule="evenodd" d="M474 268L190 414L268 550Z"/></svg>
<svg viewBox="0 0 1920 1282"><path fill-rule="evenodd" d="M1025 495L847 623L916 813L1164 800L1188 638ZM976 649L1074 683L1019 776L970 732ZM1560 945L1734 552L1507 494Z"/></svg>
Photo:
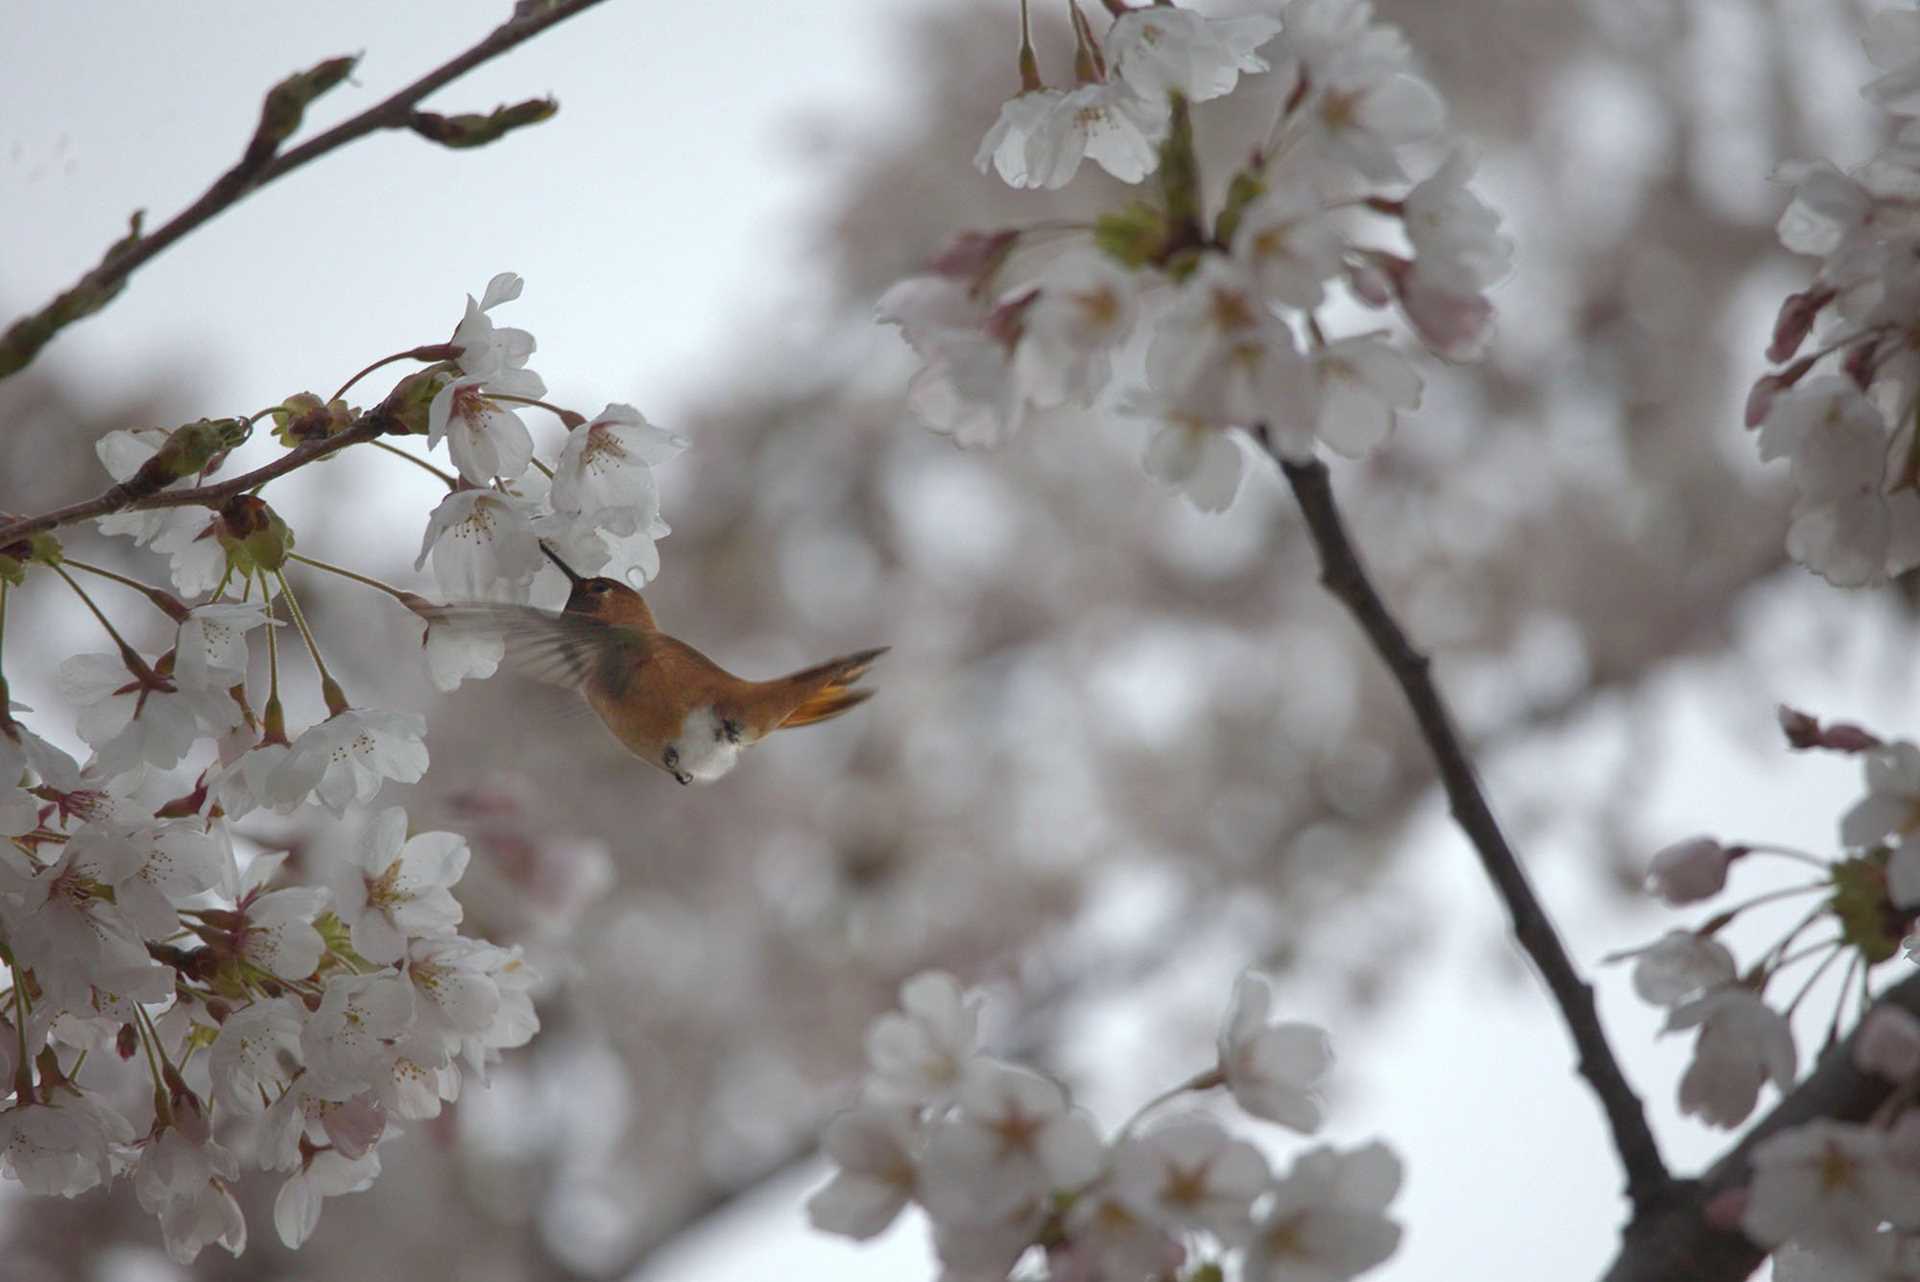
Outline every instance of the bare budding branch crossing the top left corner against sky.
<svg viewBox="0 0 1920 1282"><path fill-rule="evenodd" d="M38 355L40 347L54 338L54 334L113 301L136 269L144 267L173 242L211 221L215 215L238 203L248 194L267 186L275 178L284 178L307 161L315 161L328 152L353 142L355 138L374 132L376 129L409 129L415 115L413 104L420 102L442 84L472 71L480 63L499 58L516 44L538 36L547 27L572 17L582 10L589 10L595 4L601 4L601 0L553 0L549 4L520 0L520 4L515 6L513 17L495 27L484 40L480 40L480 44L474 44L453 61L428 71L386 102L367 107L353 119L334 125L324 134L300 144L278 159L275 159L275 150L278 148L280 132L275 129L275 113L284 107L276 100L278 90L267 94L267 104L261 111L261 123L253 140L240 155L240 161L215 178L213 186L202 192L200 200L173 215L165 226L150 234L142 234L140 215L136 213L127 236L108 246L108 251L100 259L98 267L81 276L69 290L63 290L46 307L21 317L8 326L6 334L0 334L0 378L8 378L10 374L25 368L27 363ZM323 63L321 67L328 67L328 63ZM315 69L315 73L317 71L321 69ZM344 69L340 75L344 75ZM292 107L296 113L294 121L298 121L301 106L305 106L305 100Z"/></svg>

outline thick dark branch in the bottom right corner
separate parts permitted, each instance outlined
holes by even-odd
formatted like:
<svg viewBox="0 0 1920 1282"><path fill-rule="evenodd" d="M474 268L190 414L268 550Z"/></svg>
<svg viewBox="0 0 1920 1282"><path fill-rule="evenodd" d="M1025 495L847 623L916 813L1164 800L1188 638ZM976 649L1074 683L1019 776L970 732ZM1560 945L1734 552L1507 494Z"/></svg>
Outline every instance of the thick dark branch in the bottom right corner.
<svg viewBox="0 0 1920 1282"><path fill-rule="evenodd" d="M1920 975L1908 975L1889 988L1878 1006L1899 1006L1920 1015ZM1636 1213L1605 1282L1736 1282L1759 1269L1766 1259L1764 1247L1738 1228L1711 1224L1707 1205L1747 1186L1753 1178L1753 1150L1768 1136L1820 1117L1864 1123L1885 1104L1895 1086L1855 1067L1853 1044L1859 1036L1860 1029L1855 1027L1847 1040L1830 1046L1793 1094L1755 1123L1703 1176L1676 1180L1665 1203Z"/></svg>

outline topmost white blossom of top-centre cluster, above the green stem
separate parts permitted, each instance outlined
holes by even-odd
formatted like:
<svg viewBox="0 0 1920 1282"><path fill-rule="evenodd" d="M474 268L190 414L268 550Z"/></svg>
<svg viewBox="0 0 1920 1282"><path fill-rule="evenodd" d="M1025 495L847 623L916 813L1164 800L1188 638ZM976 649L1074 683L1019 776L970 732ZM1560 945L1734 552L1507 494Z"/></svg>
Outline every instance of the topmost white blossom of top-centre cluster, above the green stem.
<svg viewBox="0 0 1920 1282"><path fill-rule="evenodd" d="M1267 69L1256 54L1279 35L1265 15L1206 17L1173 6L1129 10L1106 33L1106 58L1133 92L1154 102L1183 94L1188 102L1223 98L1242 73Z"/></svg>

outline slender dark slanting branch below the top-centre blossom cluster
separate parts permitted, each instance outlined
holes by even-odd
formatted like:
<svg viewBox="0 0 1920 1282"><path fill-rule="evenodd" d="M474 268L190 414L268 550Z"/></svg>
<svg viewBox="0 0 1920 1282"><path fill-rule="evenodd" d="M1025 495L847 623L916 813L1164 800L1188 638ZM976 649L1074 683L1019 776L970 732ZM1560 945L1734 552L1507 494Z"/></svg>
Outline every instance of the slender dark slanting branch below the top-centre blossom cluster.
<svg viewBox="0 0 1920 1282"><path fill-rule="evenodd" d="M1427 748L1440 770L1440 785L1446 789L1453 821L1480 856L1480 866L1486 869L1494 890L1513 917L1513 935L1540 969L1540 977L1559 1006L1561 1019L1567 1023L1569 1033L1572 1033L1580 1075L1586 1077L1594 1094L1599 1096L1607 1127L1613 1130L1613 1146L1620 1153L1620 1165L1626 1167L1626 1196L1634 1203L1634 1215L1636 1219L1647 1215L1668 1199L1668 1186L1672 1184L1667 1165L1661 1161L1659 1146L1653 1140L1653 1130L1647 1127L1647 1115L1640 1105L1640 1096L1634 1094L1619 1061L1613 1057L1613 1048L1607 1046L1607 1034L1599 1027L1599 1011L1594 1006L1594 988L1574 969L1572 960L1567 956L1567 946L1553 927L1553 919L1542 908L1521 862L1515 858L1513 848L1500 831L1500 823L1494 819L1494 812L1486 804L1486 795L1475 777L1467 748L1453 729L1453 718L1448 714L1446 702L1432 681L1427 656L1407 641L1407 633L1394 620L1392 612L1388 612L1386 603L1380 601L1380 593L1375 591L1373 582L1367 578L1367 570L1359 564L1359 555L1348 539L1338 507L1334 507L1327 466L1319 461L1290 463L1275 451L1265 428L1260 428L1254 436L1281 464L1286 484L1294 489L1294 499L1298 499L1300 512L1306 516L1313 547L1319 551L1321 583L1359 622L1361 631L1367 633L1367 641L1373 643L1373 649L1386 662L1388 672L1392 672L1394 681L1413 708L1421 739L1427 741Z"/></svg>

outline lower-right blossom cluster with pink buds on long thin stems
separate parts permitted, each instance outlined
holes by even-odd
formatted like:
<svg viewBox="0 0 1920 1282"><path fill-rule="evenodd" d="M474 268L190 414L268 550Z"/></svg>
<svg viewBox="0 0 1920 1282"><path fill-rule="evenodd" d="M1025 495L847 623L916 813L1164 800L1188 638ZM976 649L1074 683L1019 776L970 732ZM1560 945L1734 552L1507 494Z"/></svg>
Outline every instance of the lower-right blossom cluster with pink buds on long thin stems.
<svg viewBox="0 0 1920 1282"><path fill-rule="evenodd" d="M1693 1061L1680 1079L1682 1111L1715 1127L1743 1123L1764 1084L1786 1092L1799 1071L1791 1015L1828 967L1847 958L1834 1011L1855 1000L1866 1009L1872 973L1901 956L1920 960L1920 745L1882 741L1847 724L1822 725L1782 708L1797 748L1862 758L1864 795L1839 819L1837 854L1816 856L1768 844L1726 844L1695 837L1661 850L1647 887L1674 906L1718 896L1736 864L1780 858L1818 869L1818 879L1770 890L1715 914L1699 929L1676 929L1619 954L1634 962L1634 988L1668 1011L1667 1031L1697 1031ZM1747 910L1812 896L1797 925L1741 971L1718 938ZM1837 933L1799 944L1818 927ZM1826 933L1826 931L1822 931ZM1811 965L1809 965L1811 963ZM1793 967L1807 977L1788 1000L1768 988ZM1720 1211L1761 1246L1778 1251L1778 1276L1914 1276L1920 1259L1920 1019L1880 1004L1851 1042L1855 1065L1899 1086L1868 1123L1816 1119L1788 1127L1753 1148L1753 1175Z"/></svg>

